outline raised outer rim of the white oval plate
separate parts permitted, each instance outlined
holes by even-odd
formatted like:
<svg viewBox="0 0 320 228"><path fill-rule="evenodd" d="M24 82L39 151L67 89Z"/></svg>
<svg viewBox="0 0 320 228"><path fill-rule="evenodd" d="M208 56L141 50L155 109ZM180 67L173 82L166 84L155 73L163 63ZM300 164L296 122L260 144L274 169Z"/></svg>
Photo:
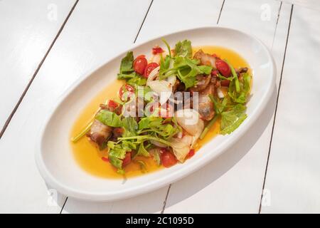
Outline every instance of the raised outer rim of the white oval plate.
<svg viewBox="0 0 320 228"><path fill-rule="evenodd" d="M58 107L63 103L65 98L70 95L85 79L89 78L93 73L100 71L100 69L110 63L111 61L114 61L115 58L119 58L123 56L127 51L133 50L139 46L144 45L145 43L149 43L151 41L155 41L161 37L166 37L166 36L171 36L176 33L183 33L183 32L194 32L198 30L206 30L206 29L225 29L237 33L242 33L245 36L249 36L250 38L255 39L264 51L267 53L267 57L269 58L271 64L271 70L272 70L272 78L270 79L270 88L267 89L267 92L265 93L264 97L262 97L262 100L265 100L264 103L260 103L260 105L257 106L257 110L255 111L255 115L250 116L250 121L245 123L244 127L241 128L241 130L238 131L237 135L233 138L230 139L230 141L226 141L222 144L219 145L217 149L215 149L215 153L206 156L208 159L207 160L198 160L198 162L194 162L190 165L188 165L188 170L186 168L181 168L180 170L172 173L171 175L166 175L161 178L157 178L156 180L152 180L151 182L147 182L144 185L138 185L137 187L131 187L127 190L120 190L117 192L95 192L94 194L87 192L87 191L79 191L75 190L72 187L66 187L64 184L60 183L47 169L45 162L43 161L42 157L42 151L41 151L41 146L43 142L43 135L46 131L46 128L48 126L48 123L50 122L51 118L53 118L53 114L55 111L58 109ZM36 166L38 168L38 171L41 174L41 177L45 182L52 187L53 189L57 190L63 195L67 195L68 197L73 197L76 199L82 199L86 201L95 201L95 202L109 202L113 201L116 199L126 199L129 197L134 197L137 195L142 195L146 192L151 192L154 190L157 190L161 187L164 187L165 185L169 185L170 183L176 182L178 180L181 180L183 177L186 177L187 175L190 175L191 172L195 172L197 170L200 170L201 167L207 165L209 162L211 162L213 159L221 155L225 150L228 150L232 145L235 144L242 136L247 132L247 130L250 129L250 127L256 122L257 118L260 117L261 113L265 110L267 107L267 103L272 97L272 94L275 92L274 91L274 86L275 86L275 81L276 81L276 76L277 76L277 68L276 64L274 61L274 58L272 56L272 53L270 49L263 43L260 38L257 38L255 35L252 35L251 33L243 32L235 28L229 28L226 26L201 26L201 27L196 27L196 28L188 28L188 29L183 29L179 31L174 31L171 33L166 33L161 36L156 36L154 38L149 38L145 41L134 43L130 46L127 46L127 48L123 51L120 51L119 54L114 55L112 58L109 58L108 61L100 64L97 68L94 68L91 71L82 73L82 75L74 82L72 83L65 91L58 97L57 102L48 110L48 117L46 120L43 122L43 125L41 126L41 130L38 133L38 140L36 142L36 150L35 150L35 160L36 160ZM228 143L227 143L228 142ZM200 163L200 164L199 164ZM156 183L156 185L155 185ZM139 190L139 191L138 191Z"/></svg>

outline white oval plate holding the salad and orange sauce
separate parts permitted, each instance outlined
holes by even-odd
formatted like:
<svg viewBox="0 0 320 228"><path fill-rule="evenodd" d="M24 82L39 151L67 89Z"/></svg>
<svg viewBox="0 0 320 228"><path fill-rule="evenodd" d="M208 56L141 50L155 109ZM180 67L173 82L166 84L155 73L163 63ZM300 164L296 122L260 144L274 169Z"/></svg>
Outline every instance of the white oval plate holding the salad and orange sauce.
<svg viewBox="0 0 320 228"><path fill-rule="evenodd" d="M189 39L193 46L224 46L240 53L250 64L253 72L252 98L247 104L247 119L231 135L218 135L183 164L129 178L124 183L123 180L90 175L75 162L70 148L70 129L87 103L115 80L121 58L125 56L126 51L105 63L97 71L80 78L53 109L41 132L36 150L38 170L50 187L69 197L93 201L109 201L140 195L169 185L203 167L250 129L270 99L275 83L276 68L266 46L253 36L223 27L196 28L163 37L171 46L174 46L176 41ZM135 55L150 53L156 44L162 44L161 37L134 45L131 51L134 51Z"/></svg>

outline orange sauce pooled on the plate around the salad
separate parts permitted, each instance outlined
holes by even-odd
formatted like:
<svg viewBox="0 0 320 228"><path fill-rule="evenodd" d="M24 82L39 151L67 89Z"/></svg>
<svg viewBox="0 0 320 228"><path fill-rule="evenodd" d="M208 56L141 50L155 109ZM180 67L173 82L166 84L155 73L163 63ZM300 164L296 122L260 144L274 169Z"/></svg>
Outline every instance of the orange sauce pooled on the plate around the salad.
<svg viewBox="0 0 320 228"><path fill-rule="evenodd" d="M235 53L228 48L219 46L201 46L193 48L193 53L198 51L200 48L205 53L215 53L222 59L227 58L235 68L249 67L247 62L238 53ZM106 100L117 96L117 92L123 84L124 81L115 80L104 90L98 93L97 96L93 98L87 106L85 106L82 113L80 113L78 118L75 120L73 128L70 131L70 138L78 135L78 133L80 133L86 125L90 123L101 103L105 103ZM212 140L215 135L218 135L219 129L220 120L217 120L213 127L208 131L206 137L203 138L203 140L198 140L196 150L201 148L208 141ZM102 160L102 157L107 156L107 150L100 151L95 143L90 142L87 137L82 137L78 142L70 142L70 146L76 162L78 162L82 169L89 172L91 175L103 178L123 178L123 176L119 175L116 172L116 169L112 167L109 162ZM137 157L136 160L142 160L146 164L146 171L144 172L154 172L162 168L156 165L156 162L151 157ZM126 172L126 177L134 177L144 174L138 162L130 162L124 170Z"/></svg>

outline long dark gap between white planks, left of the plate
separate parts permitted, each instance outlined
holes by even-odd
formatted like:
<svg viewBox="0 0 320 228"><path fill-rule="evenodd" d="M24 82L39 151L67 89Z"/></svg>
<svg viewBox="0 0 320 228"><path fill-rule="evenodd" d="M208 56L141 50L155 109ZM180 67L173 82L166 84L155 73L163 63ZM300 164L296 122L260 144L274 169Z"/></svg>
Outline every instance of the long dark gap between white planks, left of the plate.
<svg viewBox="0 0 320 228"><path fill-rule="evenodd" d="M63 21L63 24L60 27L57 35L55 36L55 38L53 39L52 43L50 44L50 46L48 48L48 51L46 52L45 56L43 56L41 62L39 63L38 67L36 68L36 71L33 73L33 76L31 77L30 81L28 82L28 85L23 90L23 93L21 94L21 96L20 96L20 98L18 100L18 103L16 103L16 106L14 106L14 110L12 110L12 112L9 115L9 117L6 119L6 123L4 123L4 127L2 128L2 130L0 132L0 140L2 138L2 135L4 135L4 132L6 131L6 128L8 128L8 125L11 122L12 118L14 117L14 114L16 113L16 110L18 110L18 107L21 104L24 96L28 92L28 89L30 88L31 84L33 83L34 78L36 78L38 72L40 71L41 66L43 65L44 61L46 61L46 58L47 58L49 52L51 51L51 49L53 48L53 45L55 44L55 41L57 41L58 37L60 36L61 31L63 31L63 28L65 27L65 24L67 24L67 21L70 18L70 15L73 13L73 10L75 9L75 6L77 6L78 1L79 0L76 0L75 4L73 4L73 7L71 8L68 16L65 18L65 21Z"/></svg>

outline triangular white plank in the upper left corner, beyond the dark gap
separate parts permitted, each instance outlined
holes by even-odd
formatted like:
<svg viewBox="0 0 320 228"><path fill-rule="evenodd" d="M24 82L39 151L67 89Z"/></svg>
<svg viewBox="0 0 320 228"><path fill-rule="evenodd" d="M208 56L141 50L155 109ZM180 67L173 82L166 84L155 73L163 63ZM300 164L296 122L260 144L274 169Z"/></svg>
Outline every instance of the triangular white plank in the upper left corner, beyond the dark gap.
<svg viewBox="0 0 320 228"><path fill-rule="evenodd" d="M75 0L0 1L0 131Z"/></svg>

